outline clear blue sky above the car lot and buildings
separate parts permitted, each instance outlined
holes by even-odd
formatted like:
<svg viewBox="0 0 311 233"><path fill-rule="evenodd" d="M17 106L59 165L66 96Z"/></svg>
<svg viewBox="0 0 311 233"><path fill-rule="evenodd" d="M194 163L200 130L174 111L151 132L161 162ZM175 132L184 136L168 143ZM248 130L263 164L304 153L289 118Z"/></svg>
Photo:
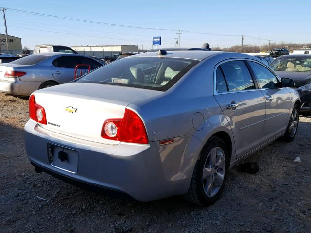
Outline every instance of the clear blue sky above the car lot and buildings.
<svg viewBox="0 0 311 233"><path fill-rule="evenodd" d="M241 43L267 44L264 39L293 43L311 42L311 1L293 0L9 0L0 7L55 16L80 18L111 24L148 28L147 30L108 26L73 20L6 11L8 34L21 37L22 45L36 44L105 45L134 44L152 48L152 37L162 36L162 47L175 46L177 30L233 34L219 36L182 32L182 47L227 47ZM43 30L43 31L39 31ZM51 32L46 32L51 31ZM0 33L4 33L3 19Z"/></svg>

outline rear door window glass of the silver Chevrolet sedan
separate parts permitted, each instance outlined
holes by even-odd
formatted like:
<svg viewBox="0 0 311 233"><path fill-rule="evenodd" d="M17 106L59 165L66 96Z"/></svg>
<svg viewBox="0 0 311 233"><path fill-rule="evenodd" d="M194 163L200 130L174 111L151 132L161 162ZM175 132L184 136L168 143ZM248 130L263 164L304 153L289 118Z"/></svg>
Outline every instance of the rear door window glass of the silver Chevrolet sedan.
<svg viewBox="0 0 311 233"><path fill-rule="evenodd" d="M254 81L244 61L231 61L220 65L229 91L255 89Z"/></svg>

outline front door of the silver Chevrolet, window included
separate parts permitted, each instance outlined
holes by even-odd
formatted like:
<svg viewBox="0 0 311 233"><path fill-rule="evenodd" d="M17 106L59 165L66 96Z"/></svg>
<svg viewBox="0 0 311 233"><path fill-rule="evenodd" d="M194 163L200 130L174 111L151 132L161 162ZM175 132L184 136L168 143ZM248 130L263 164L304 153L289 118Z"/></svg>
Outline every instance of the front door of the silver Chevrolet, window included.
<svg viewBox="0 0 311 233"><path fill-rule="evenodd" d="M285 132L292 101L286 87L280 87L276 76L261 64L248 61L260 91L265 97L266 118L263 131L263 142L267 142L276 135Z"/></svg>

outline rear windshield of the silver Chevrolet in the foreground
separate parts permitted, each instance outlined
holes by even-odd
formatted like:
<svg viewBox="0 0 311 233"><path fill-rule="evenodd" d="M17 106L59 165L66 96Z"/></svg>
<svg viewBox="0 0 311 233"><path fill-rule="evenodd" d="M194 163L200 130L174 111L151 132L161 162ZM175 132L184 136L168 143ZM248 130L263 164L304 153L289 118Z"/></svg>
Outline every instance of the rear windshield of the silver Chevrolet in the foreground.
<svg viewBox="0 0 311 233"><path fill-rule="evenodd" d="M166 91L198 62L180 58L129 57L100 67L76 82Z"/></svg>

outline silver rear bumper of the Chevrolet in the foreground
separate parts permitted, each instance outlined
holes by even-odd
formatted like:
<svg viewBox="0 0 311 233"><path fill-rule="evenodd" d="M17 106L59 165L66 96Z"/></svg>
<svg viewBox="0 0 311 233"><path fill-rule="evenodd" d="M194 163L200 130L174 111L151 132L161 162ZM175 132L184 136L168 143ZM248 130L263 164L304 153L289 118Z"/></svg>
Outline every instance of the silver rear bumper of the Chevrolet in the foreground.
<svg viewBox="0 0 311 233"><path fill-rule="evenodd" d="M69 183L114 190L138 201L151 201L185 194L188 191L195 165L195 160L187 157L185 152L189 137L181 137L178 139L179 143L168 144L167 148L160 146L158 142L150 142L148 145L95 145L79 141L80 139L70 140L62 134L55 137L55 133L50 134L49 131L43 130L33 120L29 120L25 125L26 152L32 164ZM194 137L193 140L191 147L199 147L202 144ZM75 174L50 164L48 143L78 152ZM194 163L189 164L188 159ZM185 161L187 164L183 164Z"/></svg>

